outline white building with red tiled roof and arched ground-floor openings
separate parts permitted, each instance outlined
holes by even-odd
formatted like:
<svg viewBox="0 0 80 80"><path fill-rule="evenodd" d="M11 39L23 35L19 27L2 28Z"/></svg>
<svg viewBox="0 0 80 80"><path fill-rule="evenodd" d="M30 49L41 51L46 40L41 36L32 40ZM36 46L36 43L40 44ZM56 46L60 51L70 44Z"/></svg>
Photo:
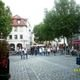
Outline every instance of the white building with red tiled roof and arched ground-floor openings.
<svg viewBox="0 0 80 80"><path fill-rule="evenodd" d="M31 29L27 19L18 15L12 17L12 31L7 37L7 41L13 51L19 48L30 48Z"/></svg>

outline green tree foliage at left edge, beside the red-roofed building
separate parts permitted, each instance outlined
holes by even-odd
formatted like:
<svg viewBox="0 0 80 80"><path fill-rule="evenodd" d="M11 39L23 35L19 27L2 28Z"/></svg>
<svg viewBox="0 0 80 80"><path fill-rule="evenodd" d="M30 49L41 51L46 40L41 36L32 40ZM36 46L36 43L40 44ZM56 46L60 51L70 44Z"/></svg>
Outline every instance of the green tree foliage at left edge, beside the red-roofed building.
<svg viewBox="0 0 80 80"><path fill-rule="evenodd" d="M0 0L0 36L6 38L11 32L11 12L9 7L5 7L5 4Z"/></svg>

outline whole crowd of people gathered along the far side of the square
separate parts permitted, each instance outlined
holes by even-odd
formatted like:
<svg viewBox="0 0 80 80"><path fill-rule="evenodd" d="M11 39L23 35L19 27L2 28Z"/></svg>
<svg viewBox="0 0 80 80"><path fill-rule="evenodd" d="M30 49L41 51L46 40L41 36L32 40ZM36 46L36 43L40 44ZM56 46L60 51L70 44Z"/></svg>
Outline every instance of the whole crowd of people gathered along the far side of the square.
<svg viewBox="0 0 80 80"><path fill-rule="evenodd" d="M65 52L66 51L66 52ZM67 55L77 55L77 52L73 49L70 49L68 46L66 49L64 47L57 48L56 46L31 46L27 48L19 48L17 54L21 56L21 59L28 59L28 55L40 55L40 56L49 56L56 54L67 54Z"/></svg>

